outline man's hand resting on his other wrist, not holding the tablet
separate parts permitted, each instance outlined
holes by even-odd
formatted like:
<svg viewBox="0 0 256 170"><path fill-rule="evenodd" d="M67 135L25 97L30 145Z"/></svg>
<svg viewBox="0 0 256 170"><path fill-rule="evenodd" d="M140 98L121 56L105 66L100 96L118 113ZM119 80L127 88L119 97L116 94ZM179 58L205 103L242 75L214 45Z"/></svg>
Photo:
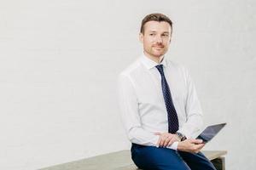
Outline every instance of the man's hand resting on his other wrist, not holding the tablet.
<svg viewBox="0 0 256 170"><path fill-rule="evenodd" d="M172 133L154 133L154 134L160 136L156 144L158 147L170 146L173 142L180 141L180 139L177 137L177 134L172 134Z"/></svg>

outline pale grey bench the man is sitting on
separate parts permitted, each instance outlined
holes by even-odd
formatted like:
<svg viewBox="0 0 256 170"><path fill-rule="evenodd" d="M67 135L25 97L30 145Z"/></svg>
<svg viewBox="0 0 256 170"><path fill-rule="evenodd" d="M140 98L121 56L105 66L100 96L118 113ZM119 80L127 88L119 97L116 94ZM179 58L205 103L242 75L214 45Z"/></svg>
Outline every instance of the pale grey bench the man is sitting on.
<svg viewBox="0 0 256 170"><path fill-rule="evenodd" d="M227 151L202 151L212 161L217 170L225 169L224 155ZM138 170L131 161L130 150L121 150L102 156L94 156L79 161L72 161L41 170Z"/></svg>

